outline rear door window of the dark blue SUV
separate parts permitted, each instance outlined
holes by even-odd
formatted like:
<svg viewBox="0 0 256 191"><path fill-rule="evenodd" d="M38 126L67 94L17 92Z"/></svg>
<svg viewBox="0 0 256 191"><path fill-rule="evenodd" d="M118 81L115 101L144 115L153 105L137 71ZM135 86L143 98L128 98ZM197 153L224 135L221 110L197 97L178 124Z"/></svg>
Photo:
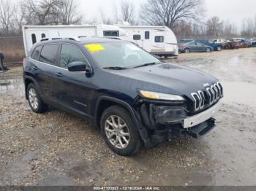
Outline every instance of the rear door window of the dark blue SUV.
<svg viewBox="0 0 256 191"><path fill-rule="evenodd" d="M48 63L53 66L58 66L57 56L59 51L59 44L47 44L42 47L41 55L39 58L40 62Z"/></svg>

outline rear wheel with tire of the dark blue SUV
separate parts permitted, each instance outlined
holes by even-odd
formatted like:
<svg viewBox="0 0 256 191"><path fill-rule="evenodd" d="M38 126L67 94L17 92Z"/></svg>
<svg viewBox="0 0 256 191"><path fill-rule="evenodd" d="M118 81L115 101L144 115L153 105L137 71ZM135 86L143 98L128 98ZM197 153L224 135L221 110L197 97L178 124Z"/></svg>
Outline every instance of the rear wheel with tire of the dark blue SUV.
<svg viewBox="0 0 256 191"><path fill-rule="evenodd" d="M42 101L37 87L31 83L26 89L26 95L29 100L29 106L35 113L43 113L48 109L48 106Z"/></svg>

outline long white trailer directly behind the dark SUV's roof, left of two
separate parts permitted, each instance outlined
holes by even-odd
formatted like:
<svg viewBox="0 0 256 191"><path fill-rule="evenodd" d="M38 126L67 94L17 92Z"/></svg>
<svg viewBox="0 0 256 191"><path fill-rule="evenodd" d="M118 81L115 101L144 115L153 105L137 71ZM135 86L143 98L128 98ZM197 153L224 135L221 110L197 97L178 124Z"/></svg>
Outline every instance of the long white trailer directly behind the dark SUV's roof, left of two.
<svg viewBox="0 0 256 191"><path fill-rule="evenodd" d="M86 36L125 36L118 26L83 25L83 26L23 26L23 41L26 55L34 43L42 39L73 38Z"/></svg>

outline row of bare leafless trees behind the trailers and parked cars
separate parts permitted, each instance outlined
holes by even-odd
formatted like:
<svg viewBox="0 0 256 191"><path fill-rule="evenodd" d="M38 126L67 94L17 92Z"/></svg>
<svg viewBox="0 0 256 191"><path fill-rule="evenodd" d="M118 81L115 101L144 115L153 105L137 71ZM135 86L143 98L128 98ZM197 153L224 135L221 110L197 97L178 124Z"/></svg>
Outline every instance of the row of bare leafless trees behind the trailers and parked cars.
<svg viewBox="0 0 256 191"><path fill-rule="evenodd" d="M14 4L16 3L16 4ZM214 16L204 20L204 0L147 0L136 7L133 1L113 4L111 14L99 7L99 17L86 19L78 11L77 0L0 0L0 34L21 34L23 25L116 24L168 26L181 38L256 36L255 18L245 18L242 26Z"/></svg>

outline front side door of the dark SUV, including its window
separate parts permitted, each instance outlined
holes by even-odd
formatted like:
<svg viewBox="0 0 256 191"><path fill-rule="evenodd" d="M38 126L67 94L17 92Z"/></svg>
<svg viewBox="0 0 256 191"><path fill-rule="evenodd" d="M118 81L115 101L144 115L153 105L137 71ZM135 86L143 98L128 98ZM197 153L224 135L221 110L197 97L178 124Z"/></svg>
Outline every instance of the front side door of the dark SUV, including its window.
<svg viewBox="0 0 256 191"><path fill-rule="evenodd" d="M86 72L68 71L69 63L81 61L89 64L83 53L73 44L62 44L60 50L60 76L57 79L59 104L66 109L88 114L92 96L91 79Z"/></svg>

